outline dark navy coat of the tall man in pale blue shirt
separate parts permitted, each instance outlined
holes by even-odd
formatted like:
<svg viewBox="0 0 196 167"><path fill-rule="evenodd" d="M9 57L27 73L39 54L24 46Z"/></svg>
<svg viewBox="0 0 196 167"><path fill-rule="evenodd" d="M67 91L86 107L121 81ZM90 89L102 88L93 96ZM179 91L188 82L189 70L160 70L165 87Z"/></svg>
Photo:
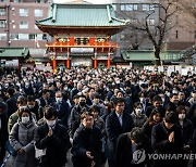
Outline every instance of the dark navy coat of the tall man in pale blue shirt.
<svg viewBox="0 0 196 167"><path fill-rule="evenodd" d="M123 125L121 127L115 112L112 112L110 115L108 115L106 119L106 132L108 137L107 145L109 149L108 158L110 159L114 158L115 144L117 144L119 136L124 132L130 132L132 128L134 127L133 118L126 112L123 113L122 121L123 121Z"/></svg>

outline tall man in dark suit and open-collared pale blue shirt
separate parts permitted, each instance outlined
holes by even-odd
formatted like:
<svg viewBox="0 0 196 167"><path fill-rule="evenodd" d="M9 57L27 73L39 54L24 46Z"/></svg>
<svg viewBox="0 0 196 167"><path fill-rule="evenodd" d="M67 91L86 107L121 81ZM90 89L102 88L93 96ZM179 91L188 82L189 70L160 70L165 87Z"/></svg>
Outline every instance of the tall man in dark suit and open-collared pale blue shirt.
<svg viewBox="0 0 196 167"><path fill-rule="evenodd" d="M128 132L134 127L132 116L124 112L125 102L122 98L114 100L114 112L112 112L106 119L107 132L107 149L109 166L114 166L114 152L118 138L121 133Z"/></svg>

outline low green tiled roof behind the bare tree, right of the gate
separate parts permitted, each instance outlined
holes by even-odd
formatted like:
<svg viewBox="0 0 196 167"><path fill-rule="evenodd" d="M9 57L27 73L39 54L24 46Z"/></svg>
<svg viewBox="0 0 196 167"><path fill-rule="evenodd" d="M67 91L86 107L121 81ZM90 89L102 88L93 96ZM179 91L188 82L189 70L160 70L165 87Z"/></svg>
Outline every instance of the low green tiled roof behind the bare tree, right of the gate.
<svg viewBox="0 0 196 167"><path fill-rule="evenodd" d="M177 61L182 57L180 51L164 51L160 53L162 61ZM156 61L154 51L124 51L122 56L126 61Z"/></svg>

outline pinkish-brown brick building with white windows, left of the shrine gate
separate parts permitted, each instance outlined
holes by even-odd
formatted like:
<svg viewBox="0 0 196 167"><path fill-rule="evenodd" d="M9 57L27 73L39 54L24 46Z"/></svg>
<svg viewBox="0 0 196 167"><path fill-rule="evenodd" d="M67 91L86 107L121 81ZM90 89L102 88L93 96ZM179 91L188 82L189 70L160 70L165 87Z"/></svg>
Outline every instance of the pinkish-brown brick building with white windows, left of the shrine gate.
<svg viewBox="0 0 196 167"><path fill-rule="evenodd" d="M28 47L32 56L41 57L48 37L35 21L48 15L49 5L48 0L1 0L0 46Z"/></svg>

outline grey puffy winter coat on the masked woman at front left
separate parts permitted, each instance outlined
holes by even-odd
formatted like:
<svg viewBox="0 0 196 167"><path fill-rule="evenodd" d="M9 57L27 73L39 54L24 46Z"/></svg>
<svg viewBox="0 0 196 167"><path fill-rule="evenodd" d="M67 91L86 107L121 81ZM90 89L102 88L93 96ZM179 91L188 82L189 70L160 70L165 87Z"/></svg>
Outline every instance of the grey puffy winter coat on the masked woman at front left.
<svg viewBox="0 0 196 167"><path fill-rule="evenodd" d="M10 133L9 140L14 150L25 150L24 154L16 155L14 159L15 167L36 167L34 134L36 130L35 123L27 125L16 123Z"/></svg>

